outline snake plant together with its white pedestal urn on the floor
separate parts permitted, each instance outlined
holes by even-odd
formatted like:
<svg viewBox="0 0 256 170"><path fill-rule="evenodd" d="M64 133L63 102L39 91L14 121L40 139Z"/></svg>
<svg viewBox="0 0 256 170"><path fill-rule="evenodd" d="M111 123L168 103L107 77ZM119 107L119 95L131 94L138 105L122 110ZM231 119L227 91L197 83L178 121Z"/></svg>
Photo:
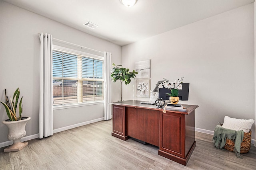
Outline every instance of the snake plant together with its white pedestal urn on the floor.
<svg viewBox="0 0 256 170"><path fill-rule="evenodd" d="M2 121L8 127L7 138L13 141L10 147L4 149L4 152L19 151L28 145L27 142L20 142L20 139L26 135L25 126L31 119L30 117L22 117L22 99L20 99L20 88L14 92L13 98L8 98L5 89L5 102L1 102L6 109L7 116L9 119ZM18 109L17 109L18 107ZM19 116L16 113L19 111Z"/></svg>

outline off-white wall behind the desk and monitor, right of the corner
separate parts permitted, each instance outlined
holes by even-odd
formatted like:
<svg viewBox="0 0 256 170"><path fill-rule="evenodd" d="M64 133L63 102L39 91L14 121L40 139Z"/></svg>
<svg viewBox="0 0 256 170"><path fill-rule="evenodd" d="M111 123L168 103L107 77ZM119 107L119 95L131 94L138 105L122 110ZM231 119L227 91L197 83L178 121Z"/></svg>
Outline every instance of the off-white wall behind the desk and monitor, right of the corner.
<svg viewBox="0 0 256 170"><path fill-rule="evenodd" d="M225 115L255 119L254 4L122 47L123 66L134 69L146 59L151 90L163 78L190 83L189 100L181 103L199 106L196 128L214 131ZM134 98L133 85L124 86L124 100Z"/></svg>

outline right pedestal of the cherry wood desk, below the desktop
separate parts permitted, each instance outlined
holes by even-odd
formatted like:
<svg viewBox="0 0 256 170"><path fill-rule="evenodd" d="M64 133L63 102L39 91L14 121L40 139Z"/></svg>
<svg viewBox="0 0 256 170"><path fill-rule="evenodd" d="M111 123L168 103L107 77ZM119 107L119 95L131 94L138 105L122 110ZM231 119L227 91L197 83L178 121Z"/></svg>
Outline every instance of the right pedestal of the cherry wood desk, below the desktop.
<svg viewBox="0 0 256 170"><path fill-rule="evenodd" d="M158 154L186 165L196 147L194 110L189 114L163 113ZM169 133L168 133L169 132Z"/></svg>

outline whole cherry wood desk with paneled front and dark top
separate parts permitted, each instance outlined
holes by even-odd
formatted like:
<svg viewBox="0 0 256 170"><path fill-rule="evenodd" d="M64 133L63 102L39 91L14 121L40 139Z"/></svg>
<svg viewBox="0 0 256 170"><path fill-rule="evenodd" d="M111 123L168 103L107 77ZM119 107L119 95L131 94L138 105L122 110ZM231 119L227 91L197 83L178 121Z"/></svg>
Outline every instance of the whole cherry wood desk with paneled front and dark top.
<svg viewBox="0 0 256 170"><path fill-rule="evenodd" d="M159 147L158 154L186 166L196 147L196 105L183 105L186 112L157 108L128 100L113 105L112 136L126 141L130 137Z"/></svg>

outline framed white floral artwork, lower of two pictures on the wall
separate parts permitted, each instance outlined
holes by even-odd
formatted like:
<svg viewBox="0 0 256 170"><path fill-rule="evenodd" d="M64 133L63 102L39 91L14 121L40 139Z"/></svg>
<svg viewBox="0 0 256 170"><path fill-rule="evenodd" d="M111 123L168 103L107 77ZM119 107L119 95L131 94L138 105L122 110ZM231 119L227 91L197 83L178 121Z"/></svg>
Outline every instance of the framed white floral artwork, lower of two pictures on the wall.
<svg viewBox="0 0 256 170"><path fill-rule="evenodd" d="M136 97L150 97L150 80L136 80Z"/></svg>

